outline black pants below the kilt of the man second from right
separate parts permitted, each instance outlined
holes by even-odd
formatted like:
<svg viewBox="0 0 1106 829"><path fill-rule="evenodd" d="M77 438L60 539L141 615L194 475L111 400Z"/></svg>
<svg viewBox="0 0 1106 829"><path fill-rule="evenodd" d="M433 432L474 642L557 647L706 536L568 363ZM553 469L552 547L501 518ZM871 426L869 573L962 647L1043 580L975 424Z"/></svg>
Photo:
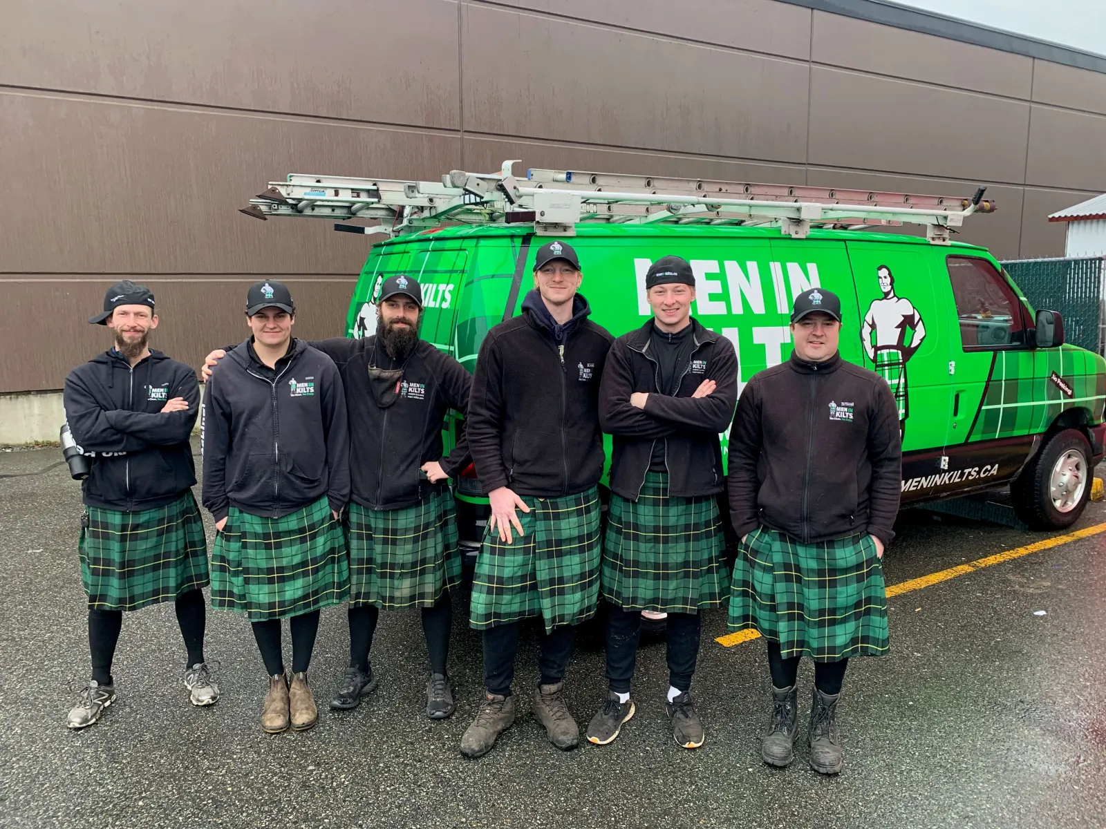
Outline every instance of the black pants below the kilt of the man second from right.
<svg viewBox="0 0 1106 829"><path fill-rule="evenodd" d="M608 604L607 680L611 690L629 693L640 639L641 611L623 610ZM696 661L699 658L699 613L669 613L666 630L668 642L668 683L679 691L691 690Z"/></svg>

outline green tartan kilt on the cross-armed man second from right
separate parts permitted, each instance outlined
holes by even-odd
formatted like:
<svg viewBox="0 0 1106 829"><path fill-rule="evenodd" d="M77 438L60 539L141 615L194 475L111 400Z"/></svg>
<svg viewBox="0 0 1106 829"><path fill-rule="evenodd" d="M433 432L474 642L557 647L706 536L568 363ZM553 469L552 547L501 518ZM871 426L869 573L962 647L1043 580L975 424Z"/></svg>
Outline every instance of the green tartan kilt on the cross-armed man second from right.
<svg viewBox="0 0 1106 829"><path fill-rule="evenodd" d="M603 598L626 610L695 613L729 596L713 495L668 494L668 473L647 472L637 501L611 495Z"/></svg>

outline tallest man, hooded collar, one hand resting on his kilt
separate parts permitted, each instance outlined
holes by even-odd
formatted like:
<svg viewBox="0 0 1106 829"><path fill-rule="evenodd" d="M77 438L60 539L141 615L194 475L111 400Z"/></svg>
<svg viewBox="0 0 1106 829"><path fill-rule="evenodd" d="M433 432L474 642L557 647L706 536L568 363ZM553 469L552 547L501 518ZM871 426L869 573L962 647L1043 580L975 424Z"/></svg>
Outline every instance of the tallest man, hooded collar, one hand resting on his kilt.
<svg viewBox="0 0 1106 829"><path fill-rule="evenodd" d="M522 314L488 332L477 359L468 437L491 516L472 580L484 695L461 738L469 757L514 722L519 628L531 617L542 623L533 713L557 748L580 741L562 694L575 626L598 597L599 378L614 339L587 318L582 279L568 244L539 248Z"/></svg>

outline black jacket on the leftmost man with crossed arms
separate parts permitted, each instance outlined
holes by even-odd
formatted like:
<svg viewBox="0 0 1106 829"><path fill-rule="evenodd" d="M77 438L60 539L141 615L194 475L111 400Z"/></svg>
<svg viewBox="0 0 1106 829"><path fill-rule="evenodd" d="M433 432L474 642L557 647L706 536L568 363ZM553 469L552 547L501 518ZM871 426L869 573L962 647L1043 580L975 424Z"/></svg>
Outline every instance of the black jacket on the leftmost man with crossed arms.
<svg viewBox="0 0 1106 829"><path fill-rule="evenodd" d="M175 397L184 411L161 413ZM196 371L160 351L134 368L114 348L65 378L65 420L92 469L81 484L84 503L138 512L176 501L196 483L188 436L199 413Z"/></svg>

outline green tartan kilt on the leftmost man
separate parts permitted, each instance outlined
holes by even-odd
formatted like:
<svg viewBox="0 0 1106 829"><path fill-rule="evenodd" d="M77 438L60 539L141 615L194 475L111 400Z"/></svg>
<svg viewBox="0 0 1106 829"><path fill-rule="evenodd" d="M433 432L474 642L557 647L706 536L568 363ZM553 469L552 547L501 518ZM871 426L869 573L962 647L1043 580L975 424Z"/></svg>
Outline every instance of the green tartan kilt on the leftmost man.
<svg viewBox="0 0 1106 829"><path fill-rule="evenodd" d="M207 541L191 490L153 510L84 510L77 549L90 608L138 610L207 587Z"/></svg>

